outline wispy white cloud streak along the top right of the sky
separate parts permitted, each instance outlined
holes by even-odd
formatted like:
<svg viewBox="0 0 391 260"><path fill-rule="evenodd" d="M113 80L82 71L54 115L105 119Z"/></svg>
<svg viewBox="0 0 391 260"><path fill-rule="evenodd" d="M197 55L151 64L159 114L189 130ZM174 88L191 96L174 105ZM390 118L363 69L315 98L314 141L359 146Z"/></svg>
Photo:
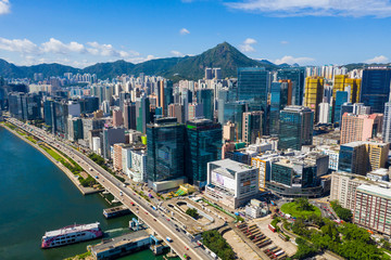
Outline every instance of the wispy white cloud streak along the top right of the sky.
<svg viewBox="0 0 391 260"><path fill-rule="evenodd" d="M226 5L272 16L391 16L390 0L240 0Z"/></svg>

